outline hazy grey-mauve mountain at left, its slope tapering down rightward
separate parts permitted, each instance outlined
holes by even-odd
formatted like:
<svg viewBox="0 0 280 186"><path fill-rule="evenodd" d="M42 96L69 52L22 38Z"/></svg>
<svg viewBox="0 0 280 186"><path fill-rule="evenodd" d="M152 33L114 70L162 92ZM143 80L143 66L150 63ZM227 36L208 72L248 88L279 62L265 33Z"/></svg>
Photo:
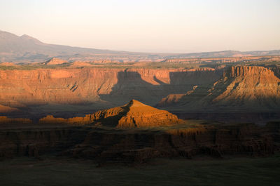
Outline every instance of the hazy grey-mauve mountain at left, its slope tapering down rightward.
<svg viewBox="0 0 280 186"><path fill-rule="evenodd" d="M77 55L97 53L118 53L117 51L106 51L92 48L79 48L44 44L31 36L16 36L9 32L0 31L0 60L2 62L13 61L40 61L43 62L54 56Z"/></svg>

